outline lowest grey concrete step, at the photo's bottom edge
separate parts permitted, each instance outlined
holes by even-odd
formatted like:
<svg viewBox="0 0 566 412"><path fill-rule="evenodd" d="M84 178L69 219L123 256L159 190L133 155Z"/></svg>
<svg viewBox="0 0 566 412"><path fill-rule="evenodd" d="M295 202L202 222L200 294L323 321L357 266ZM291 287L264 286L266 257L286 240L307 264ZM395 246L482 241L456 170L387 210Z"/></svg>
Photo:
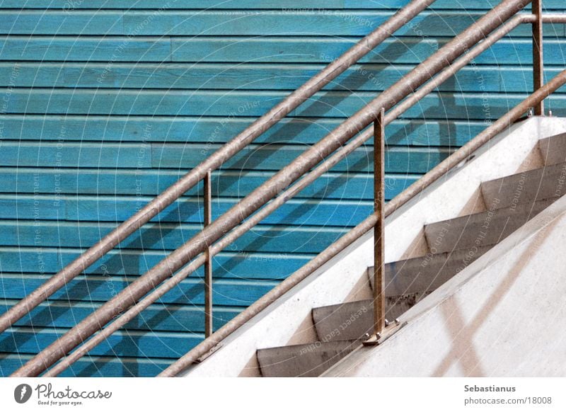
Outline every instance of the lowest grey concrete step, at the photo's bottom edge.
<svg viewBox="0 0 566 412"><path fill-rule="evenodd" d="M259 349L263 377L318 377L361 344L360 341L314 342Z"/></svg>

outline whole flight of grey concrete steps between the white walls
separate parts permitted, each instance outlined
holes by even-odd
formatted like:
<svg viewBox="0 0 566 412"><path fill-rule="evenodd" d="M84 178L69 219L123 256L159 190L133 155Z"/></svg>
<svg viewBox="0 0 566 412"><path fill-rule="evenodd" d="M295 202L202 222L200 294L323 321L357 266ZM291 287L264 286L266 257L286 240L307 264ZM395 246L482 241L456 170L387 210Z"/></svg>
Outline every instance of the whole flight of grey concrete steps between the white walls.
<svg viewBox="0 0 566 412"><path fill-rule="evenodd" d="M387 319L403 314L562 196L566 134L541 139L538 148L545 166L482 183L485 211L425 225L428 253L386 264ZM369 282L372 272L369 268ZM372 304L359 300L313 309L318 340L259 349L262 376L319 376L362 344L373 325Z"/></svg>

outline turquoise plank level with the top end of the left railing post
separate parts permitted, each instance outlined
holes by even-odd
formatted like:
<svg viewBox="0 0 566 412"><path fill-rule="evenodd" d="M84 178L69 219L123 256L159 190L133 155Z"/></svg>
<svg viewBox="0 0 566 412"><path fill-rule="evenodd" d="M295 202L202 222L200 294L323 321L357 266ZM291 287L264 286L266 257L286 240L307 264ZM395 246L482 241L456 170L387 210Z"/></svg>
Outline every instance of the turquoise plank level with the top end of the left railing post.
<svg viewBox="0 0 566 412"><path fill-rule="evenodd" d="M267 181L275 172L219 171L213 173L214 197L241 197ZM158 195L183 176L183 171L96 168L0 168L0 193L47 195ZM386 200L417 181L418 174L386 174ZM373 199L369 173L325 173L295 198ZM185 193L202 193L198 185Z"/></svg>

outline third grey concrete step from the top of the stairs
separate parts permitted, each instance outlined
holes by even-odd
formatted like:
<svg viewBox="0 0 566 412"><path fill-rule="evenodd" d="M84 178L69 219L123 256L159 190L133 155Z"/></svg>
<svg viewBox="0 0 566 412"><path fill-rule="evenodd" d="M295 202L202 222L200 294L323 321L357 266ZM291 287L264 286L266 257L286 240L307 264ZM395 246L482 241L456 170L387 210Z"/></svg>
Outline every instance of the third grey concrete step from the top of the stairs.
<svg viewBox="0 0 566 412"><path fill-rule="evenodd" d="M486 212L427 224L424 227L424 234L427 236L429 248L434 248L437 253L494 245L519 229L556 199L539 200L502 209L492 207Z"/></svg>

